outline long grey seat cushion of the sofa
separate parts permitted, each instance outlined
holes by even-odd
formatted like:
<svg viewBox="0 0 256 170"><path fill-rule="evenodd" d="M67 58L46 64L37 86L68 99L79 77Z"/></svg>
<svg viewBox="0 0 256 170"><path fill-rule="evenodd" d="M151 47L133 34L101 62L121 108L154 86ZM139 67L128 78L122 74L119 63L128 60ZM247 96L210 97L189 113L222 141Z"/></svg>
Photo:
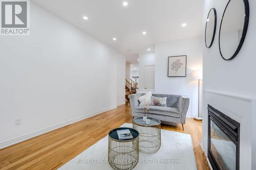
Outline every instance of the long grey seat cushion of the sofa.
<svg viewBox="0 0 256 170"><path fill-rule="evenodd" d="M144 106L138 106L137 108L135 108L135 112L144 113ZM178 118L180 117L179 110L174 107L150 106L149 113Z"/></svg>

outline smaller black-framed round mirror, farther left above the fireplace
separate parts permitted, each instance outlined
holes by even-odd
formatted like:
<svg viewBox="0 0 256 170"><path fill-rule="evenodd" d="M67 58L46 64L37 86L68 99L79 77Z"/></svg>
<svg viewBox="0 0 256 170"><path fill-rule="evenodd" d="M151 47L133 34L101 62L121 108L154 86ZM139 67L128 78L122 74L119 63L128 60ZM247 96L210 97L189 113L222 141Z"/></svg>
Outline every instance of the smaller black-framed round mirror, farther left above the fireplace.
<svg viewBox="0 0 256 170"><path fill-rule="evenodd" d="M214 42L215 32L217 24L217 13L215 8L211 8L205 25L204 41L207 48L211 47Z"/></svg>

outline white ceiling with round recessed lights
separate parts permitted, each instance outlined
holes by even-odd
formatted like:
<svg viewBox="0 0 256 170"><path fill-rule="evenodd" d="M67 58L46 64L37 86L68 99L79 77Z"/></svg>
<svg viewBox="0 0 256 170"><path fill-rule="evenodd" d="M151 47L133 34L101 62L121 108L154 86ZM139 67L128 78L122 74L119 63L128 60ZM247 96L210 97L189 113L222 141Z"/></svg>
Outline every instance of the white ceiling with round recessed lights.
<svg viewBox="0 0 256 170"><path fill-rule="evenodd" d="M127 2L126 7L123 2ZM203 0L33 0L137 64L156 42L202 34ZM84 20L83 16L89 19ZM186 27L181 27L182 23ZM146 31L146 35L142 32ZM116 38L116 41L113 40Z"/></svg>

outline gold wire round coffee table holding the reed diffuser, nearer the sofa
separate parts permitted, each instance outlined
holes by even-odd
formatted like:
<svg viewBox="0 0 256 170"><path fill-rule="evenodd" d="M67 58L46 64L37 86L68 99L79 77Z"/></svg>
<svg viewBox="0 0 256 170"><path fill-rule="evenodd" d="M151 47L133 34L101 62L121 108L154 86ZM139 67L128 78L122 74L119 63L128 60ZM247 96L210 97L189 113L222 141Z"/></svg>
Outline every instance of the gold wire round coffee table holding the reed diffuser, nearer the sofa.
<svg viewBox="0 0 256 170"><path fill-rule="evenodd" d="M139 132L139 151L145 154L156 153L161 147L161 122L150 117L150 124L143 117L133 119L133 129Z"/></svg>

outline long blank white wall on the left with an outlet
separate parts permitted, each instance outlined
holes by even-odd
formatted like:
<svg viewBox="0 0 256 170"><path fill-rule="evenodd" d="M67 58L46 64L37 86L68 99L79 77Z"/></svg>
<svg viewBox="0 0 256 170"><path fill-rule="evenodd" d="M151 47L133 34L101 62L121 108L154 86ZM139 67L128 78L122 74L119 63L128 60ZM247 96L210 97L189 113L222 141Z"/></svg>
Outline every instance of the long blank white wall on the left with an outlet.
<svg viewBox="0 0 256 170"><path fill-rule="evenodd" d="M30 36L0 37L0 148L124 100L123 56L32 2L30 17Z"/></svg>

